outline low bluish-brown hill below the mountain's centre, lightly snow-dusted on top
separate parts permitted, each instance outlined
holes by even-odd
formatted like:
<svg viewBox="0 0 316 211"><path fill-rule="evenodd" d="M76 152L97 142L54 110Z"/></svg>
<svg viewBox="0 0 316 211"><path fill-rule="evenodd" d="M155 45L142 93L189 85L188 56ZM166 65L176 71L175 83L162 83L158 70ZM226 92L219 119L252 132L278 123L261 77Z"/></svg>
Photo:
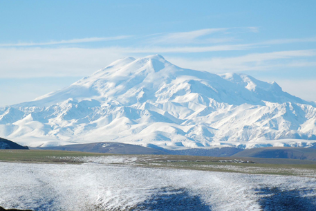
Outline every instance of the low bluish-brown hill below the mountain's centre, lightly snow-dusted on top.
<svg viewBox="0 0 316 211"><path fill-rule="evenodd" d="M64 145L58 147L41 147L39 149L98 152L109 154L168 154L167 152L163 152L159 149L113 142Z"/></svg>

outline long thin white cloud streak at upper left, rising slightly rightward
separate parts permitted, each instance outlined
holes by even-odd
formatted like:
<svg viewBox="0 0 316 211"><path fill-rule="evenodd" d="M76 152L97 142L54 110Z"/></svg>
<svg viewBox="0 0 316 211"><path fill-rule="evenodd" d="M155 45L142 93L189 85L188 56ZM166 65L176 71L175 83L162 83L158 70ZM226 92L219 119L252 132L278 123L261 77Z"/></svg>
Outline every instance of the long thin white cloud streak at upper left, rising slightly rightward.
<svg viewBox="0 0 316 211"><path fill-rule="evenodd" d="M104 42L104 41L113 41L119 39L127 39L131 36L117 36L117 37L90 37L82 39L67 39L60 41L50 41L50 42L23 42L17 44L0 44L0 47L17 47L17 46L49 46L57 44L78 44L86 42Z"/></svg>

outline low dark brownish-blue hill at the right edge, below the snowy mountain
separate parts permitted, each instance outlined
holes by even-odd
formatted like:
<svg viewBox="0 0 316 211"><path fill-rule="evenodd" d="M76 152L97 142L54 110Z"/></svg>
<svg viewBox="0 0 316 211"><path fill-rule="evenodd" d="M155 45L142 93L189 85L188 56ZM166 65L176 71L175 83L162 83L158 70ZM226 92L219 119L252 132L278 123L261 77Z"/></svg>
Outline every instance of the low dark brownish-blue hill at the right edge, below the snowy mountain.
<svg viewBox="0 0 316 211"><path fill-rule="evenodd" d="M245 149L238 152L234 157L252 158L290 158L300 160L316 160L316 149L297 147L261 147Z"/></svg>

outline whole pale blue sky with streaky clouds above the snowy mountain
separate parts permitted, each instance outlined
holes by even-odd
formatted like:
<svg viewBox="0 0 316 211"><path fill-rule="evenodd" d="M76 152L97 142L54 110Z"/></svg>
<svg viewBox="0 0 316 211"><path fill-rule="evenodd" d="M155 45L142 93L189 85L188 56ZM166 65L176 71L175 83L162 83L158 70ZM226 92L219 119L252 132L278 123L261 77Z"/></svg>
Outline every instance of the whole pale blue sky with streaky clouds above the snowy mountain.
<svg viewBox="0 0 316 211"><path fill-rule="evenodd" d="M316 100L316 1L0 1L0 106L163 55Z"/></svg>

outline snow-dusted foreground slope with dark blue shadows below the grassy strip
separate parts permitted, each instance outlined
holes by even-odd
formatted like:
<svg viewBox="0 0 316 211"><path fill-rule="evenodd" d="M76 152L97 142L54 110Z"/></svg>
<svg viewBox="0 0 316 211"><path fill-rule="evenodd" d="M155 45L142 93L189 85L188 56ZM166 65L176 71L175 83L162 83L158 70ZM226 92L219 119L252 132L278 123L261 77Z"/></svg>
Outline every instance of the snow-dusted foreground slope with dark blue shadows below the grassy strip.
<svg viewBox="0 0 316 211"><path fill-rule="evenodd" d="M0 206L4 208L316 209L316 178L144 168L106 162L82 165L1 162L0 172Z"/></svg>

